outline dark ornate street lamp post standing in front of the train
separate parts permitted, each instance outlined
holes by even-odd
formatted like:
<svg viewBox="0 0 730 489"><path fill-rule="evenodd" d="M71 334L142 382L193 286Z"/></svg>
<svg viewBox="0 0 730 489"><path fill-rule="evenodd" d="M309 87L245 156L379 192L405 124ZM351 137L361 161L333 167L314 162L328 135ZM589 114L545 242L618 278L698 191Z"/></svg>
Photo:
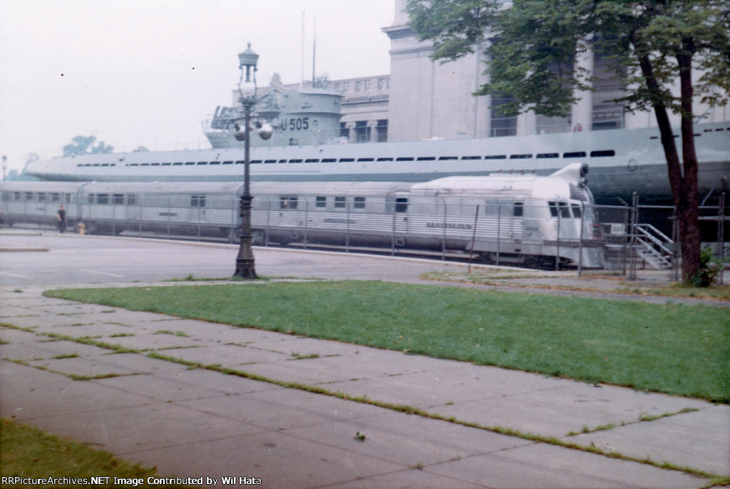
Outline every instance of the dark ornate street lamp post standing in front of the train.
<svg viewBox="0 0 730 489"><path fill-rule="evenodd" d="M244 138L244 166L243 166L243 193L241 194L241 234L238 256L236 258L236 273L234 277L244 279L255 279L256 270L254 266L253 250L251 249L251 200L250 193L250 150L251 150L251 112L256 103L256 62L258 54L251 50L249 43L247 50L239 53L239 68L241 69L241 81L238 91L241 94L239 101L243 105L244 126L243 131L237 127L237 139ZM253 72L253 73L252 73Z"/></svg>

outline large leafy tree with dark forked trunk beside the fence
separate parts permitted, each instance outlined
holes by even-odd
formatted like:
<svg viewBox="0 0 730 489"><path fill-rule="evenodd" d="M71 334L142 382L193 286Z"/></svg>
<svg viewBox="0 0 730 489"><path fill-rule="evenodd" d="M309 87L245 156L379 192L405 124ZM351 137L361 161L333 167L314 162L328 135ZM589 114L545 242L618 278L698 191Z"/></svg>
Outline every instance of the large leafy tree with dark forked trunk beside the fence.
<svg viewBox="0 0 730 489"><path fill-rule="evenodd" d="M490 81L475 95L508 96L505 115L532 110L570 113L595 75L586 50L625 80L615 102L631 112L653 109L664 148L682 250L682 277L700 268L699 190L693 102L727 104L730 92L730 3L727 0L408 0L420 41L434 42L434 60L453 61L488 41ZM693 75L699 77L693 79ZM679 83L679 92L672 90ZM680 115L682 153L669 113Z"/></svg>

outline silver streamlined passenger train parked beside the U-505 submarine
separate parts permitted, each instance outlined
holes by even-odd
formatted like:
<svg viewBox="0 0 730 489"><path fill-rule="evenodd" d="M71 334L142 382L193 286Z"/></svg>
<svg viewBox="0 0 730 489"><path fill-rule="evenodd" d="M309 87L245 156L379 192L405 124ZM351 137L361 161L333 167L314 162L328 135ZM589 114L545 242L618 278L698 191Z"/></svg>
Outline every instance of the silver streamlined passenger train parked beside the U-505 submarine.
<svg viewBox="0 0 730 489"><path fill-rule="evenodd" d="M541 177L429 182L252 182L254 244L461 250L500 263L604 267L585 163ZM237 236L240 182L1 182L7 224L58 220L90 233Z"/></svg>

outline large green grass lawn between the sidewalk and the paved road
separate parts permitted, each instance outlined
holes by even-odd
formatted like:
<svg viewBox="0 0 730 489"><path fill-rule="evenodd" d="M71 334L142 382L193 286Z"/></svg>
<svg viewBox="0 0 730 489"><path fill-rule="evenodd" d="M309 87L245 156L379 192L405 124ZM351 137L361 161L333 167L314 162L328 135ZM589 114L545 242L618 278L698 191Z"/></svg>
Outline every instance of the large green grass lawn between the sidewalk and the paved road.
<svg viewBox="0 0 730 489"><path fill-rule="evenodd" d="M356 281L45 295L730 402L718 307Z"/></svg>

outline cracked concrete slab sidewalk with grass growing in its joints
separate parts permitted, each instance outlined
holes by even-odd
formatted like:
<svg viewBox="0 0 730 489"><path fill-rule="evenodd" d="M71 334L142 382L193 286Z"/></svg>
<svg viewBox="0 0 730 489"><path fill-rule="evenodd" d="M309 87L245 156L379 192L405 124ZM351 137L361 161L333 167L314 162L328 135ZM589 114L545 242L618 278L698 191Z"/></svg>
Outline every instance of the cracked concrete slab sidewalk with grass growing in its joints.
<svg viewBox="0 0 730 489"><path fill-rule="evenodd" d="M266 488L689 488L709 482L639 462L645 458L730 475L726 405L47 299L42 290L0 288L0 323L12 325L0 327L6 342L0 344L0 415L156 466L161 476L211 477L218 487L221 477L236 477L237 485L250 482L239 477L255 477ZM48 334L93 336L144 351L112 354L69 339L49 341ZM191 369L150 358L150 349L275 382ZM639 420L645 416L664 417ZM593 431L599 427L607 429ZM497 434L497 428L630 460Z"/></svg>

